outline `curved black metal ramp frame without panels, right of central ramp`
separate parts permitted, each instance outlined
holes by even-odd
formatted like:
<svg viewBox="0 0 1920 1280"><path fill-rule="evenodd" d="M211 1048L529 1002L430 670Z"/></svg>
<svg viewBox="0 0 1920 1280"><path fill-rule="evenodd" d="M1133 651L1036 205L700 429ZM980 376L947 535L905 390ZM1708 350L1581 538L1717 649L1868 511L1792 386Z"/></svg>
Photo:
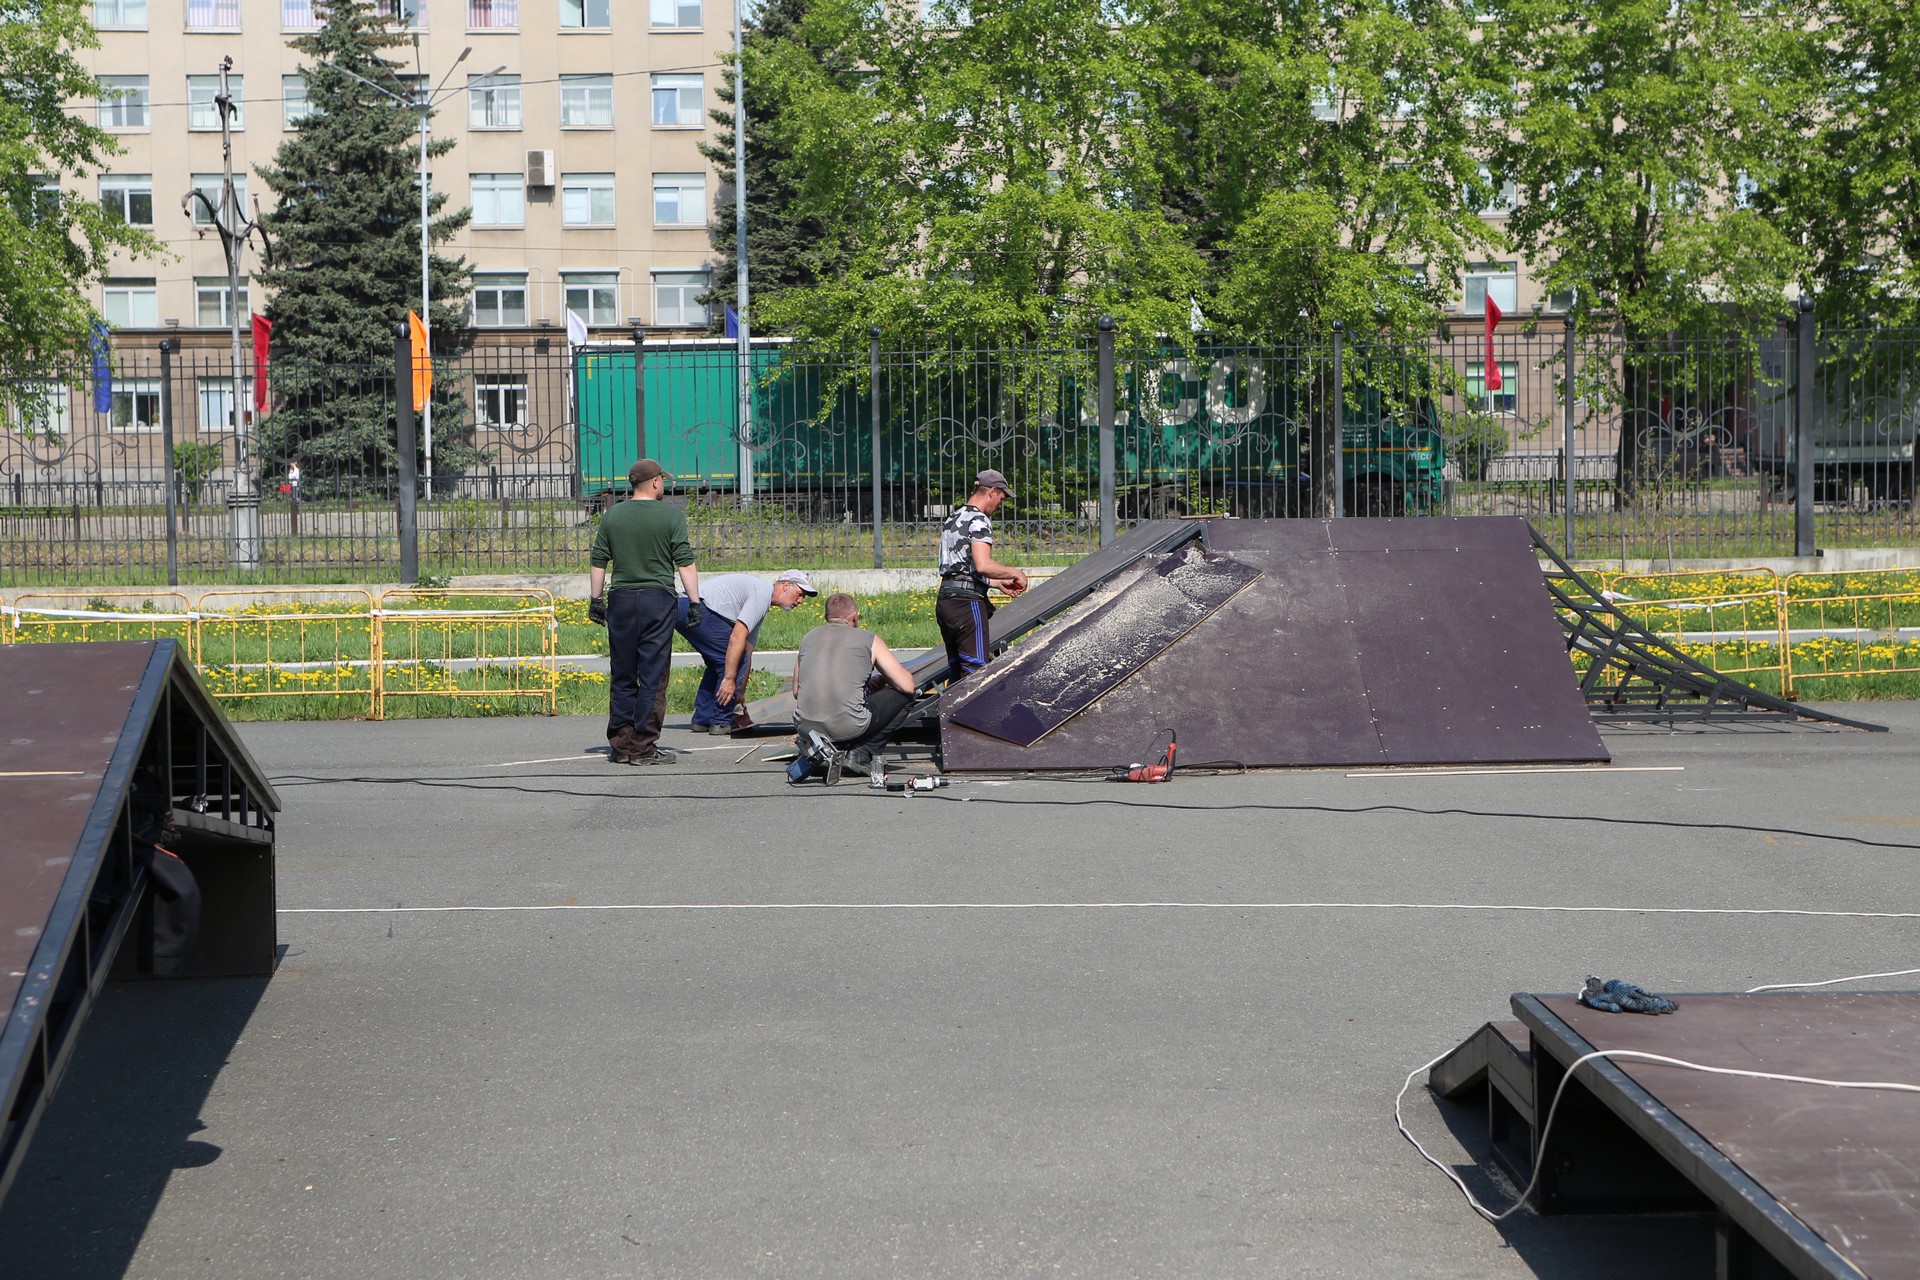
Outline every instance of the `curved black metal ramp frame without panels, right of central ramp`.
<svg viewBox="0 0 1920 1280"><path fill-rule="evenodd" d="M1532 524L1534 551L1546 570L1567 652L1588 656L1580 693L1596 725L1697 723L1716 727L1836 725L1885 733L1885 725L1847 720L1763 693L1695 662L1613 606Z"/></svg>

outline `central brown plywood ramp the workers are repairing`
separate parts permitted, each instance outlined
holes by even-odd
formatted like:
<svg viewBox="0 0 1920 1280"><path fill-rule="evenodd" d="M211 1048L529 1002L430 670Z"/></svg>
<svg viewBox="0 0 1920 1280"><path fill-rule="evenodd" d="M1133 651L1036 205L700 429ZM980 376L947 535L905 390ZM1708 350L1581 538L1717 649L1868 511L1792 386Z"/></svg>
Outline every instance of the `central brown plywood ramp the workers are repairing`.
<svg viewBox="0 0 1920 1280"><path fill-rule="evenodd" d="M948 770L1609 758L1519 518L1212 520L941 700ZM1185 585L1181 585L1185 583ZM1179 587L1179 589L1169 589ZM1164 737L1162 737L1164 743Z"/></svg>

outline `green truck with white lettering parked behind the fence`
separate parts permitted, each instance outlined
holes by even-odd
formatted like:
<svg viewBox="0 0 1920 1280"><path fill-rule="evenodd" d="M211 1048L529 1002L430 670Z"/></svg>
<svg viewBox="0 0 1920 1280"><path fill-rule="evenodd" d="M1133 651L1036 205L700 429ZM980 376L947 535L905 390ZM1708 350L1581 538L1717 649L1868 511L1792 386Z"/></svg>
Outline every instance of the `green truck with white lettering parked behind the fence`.
<svg viewBox="0 0 1920 1280"><path fill-rule="evenodd" d="M682 491L751 493L820 518L866 520L876 472L866 363L810 365L789 359L778 340L755 344L747 432L735 370L732 342L659 344L645 349L636 388L634 347L580 347L574 420L584 493L605 501L624 491L628 466L647 455ZM939 372L891 357L877 432L883 510L922 518L975 468L998 466L1016 489L1031 491L1023 512L1091 514L1098 422L1085 382L1029 374L1016 393L996 372ZM1306 397L1284 361L1258 351L1152 353L1123 361L1116 384L1114 489L1123 518L1309 509ZM1446 457L1428 397L1350 382L1340 436L1350 512L1440 507Z"/></svg>

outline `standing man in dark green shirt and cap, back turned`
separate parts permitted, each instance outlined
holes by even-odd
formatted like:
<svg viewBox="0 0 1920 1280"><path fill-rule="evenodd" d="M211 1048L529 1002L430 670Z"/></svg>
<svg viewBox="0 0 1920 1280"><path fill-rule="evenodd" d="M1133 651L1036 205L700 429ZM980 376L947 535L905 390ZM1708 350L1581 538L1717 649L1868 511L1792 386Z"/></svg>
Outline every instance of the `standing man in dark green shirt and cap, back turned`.
<svg viewBox="0 0 1920 1280"><path fill-rule="evenodd" d="M659 747L680 612L674 574L687 589L687 616L695 622L701 614L701 578L693 568L687 512L660 501L672 476L653 459L641 459L626 478L632 497L601 516L588 574L588 616L607 626L607 758L614 764L674 764L674 756ZM612 589L601 599L609 564Z"/></svg>

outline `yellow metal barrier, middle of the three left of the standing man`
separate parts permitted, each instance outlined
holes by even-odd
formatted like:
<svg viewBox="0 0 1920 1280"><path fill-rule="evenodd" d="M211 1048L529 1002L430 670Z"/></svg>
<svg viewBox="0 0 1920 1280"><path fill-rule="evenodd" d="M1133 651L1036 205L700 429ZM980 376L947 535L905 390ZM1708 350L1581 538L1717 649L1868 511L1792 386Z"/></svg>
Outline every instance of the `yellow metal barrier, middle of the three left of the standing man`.
<svg viewBox="0 0 1920 1280"><path fill-rule="evenodd" d="M217 699L351 699L378 720L378 629L371 591L284 587L200 597L200 677Z"/></svg>

